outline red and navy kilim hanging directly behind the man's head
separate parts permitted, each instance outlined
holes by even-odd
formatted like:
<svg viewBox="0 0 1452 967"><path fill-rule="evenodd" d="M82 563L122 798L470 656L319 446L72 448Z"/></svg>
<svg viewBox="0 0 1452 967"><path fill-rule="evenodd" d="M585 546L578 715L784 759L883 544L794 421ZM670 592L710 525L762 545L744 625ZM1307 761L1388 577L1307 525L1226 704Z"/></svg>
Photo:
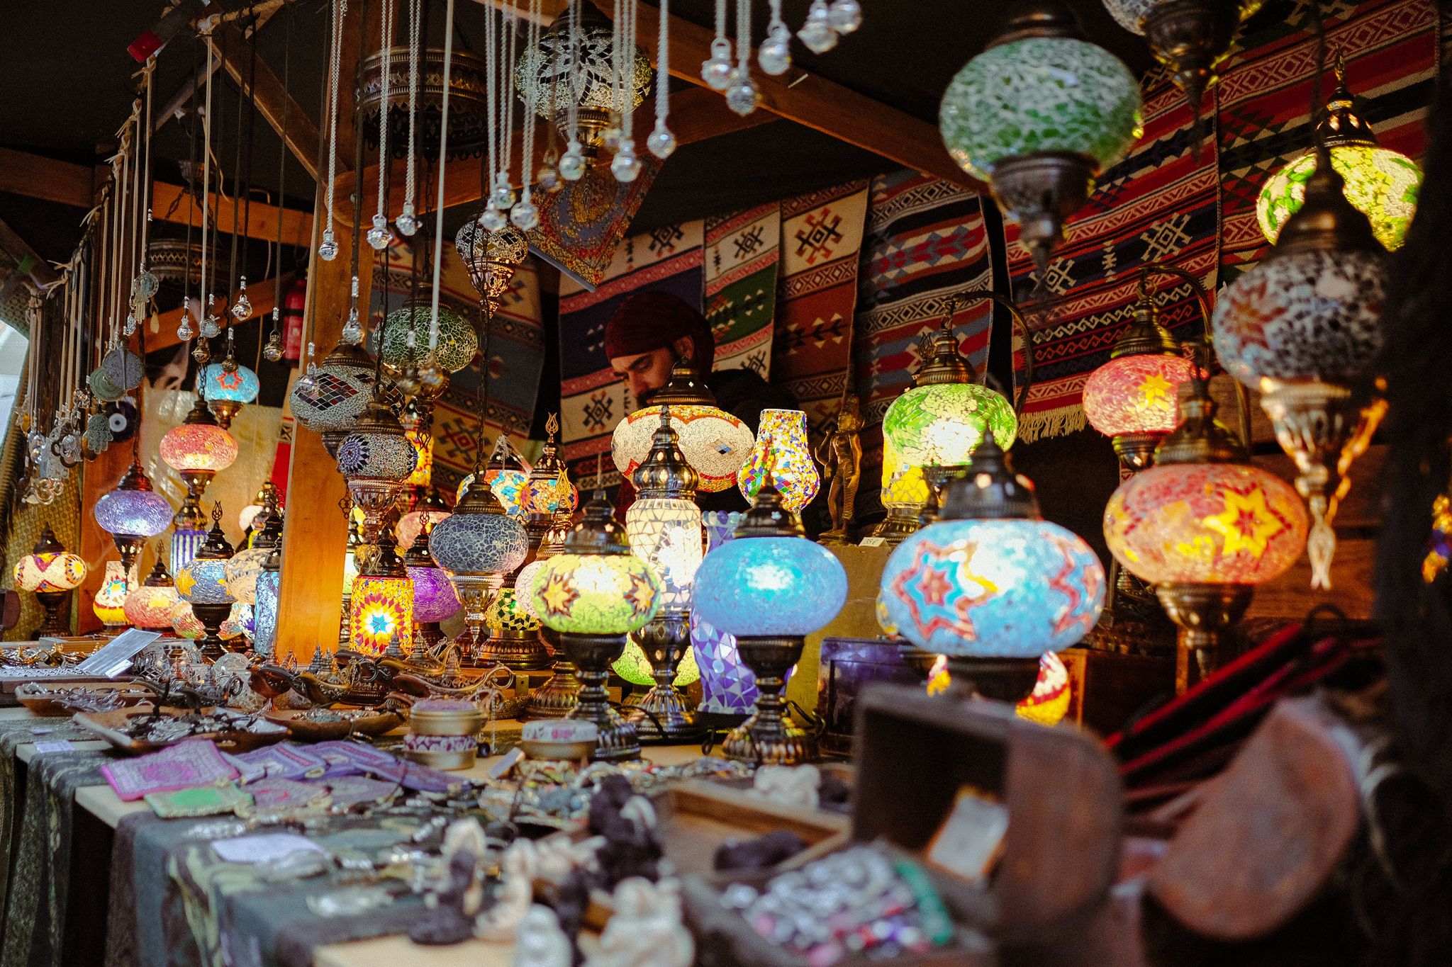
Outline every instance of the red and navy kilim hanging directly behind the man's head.
<svg viewBox="0 0 1452 967"><path fill-rule="evenodd" d="M569 473L581 486L594 486L600 454L604 454L600 486L614 487L620 481L610 460L610 435L636 409L605 358L605 323L626 296L648 289L669 291L698 309L703 239L703 222L666 225L621 242L594 291L560 278L560 438Z"/></svg>

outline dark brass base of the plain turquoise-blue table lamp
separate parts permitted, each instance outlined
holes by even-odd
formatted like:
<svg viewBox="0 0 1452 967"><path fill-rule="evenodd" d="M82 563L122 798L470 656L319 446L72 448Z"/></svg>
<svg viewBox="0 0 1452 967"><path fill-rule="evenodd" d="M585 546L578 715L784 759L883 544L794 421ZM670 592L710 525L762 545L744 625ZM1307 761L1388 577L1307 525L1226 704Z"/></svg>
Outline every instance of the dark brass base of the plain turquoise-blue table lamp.
<svg viewBox="0 0 1452 967"><path fill-rule="evenodd" d="M816 736L791 721L781 699L783 676L802 658L804 638L736 638L741 660L756 673L756 712L722 744L726 758L758 765L800 765L817 757Z"/></svg>

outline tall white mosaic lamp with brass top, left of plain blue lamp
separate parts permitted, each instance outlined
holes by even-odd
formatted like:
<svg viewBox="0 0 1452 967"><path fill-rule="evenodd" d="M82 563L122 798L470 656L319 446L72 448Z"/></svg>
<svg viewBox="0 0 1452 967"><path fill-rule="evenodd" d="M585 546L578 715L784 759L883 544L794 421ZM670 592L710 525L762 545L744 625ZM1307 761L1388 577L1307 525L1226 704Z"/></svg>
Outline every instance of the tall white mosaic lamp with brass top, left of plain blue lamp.
<svg viewBox="0 0 1452 967"><path fill-rule="evenodd" d="M768 413L781 412L762 410L762 426ZM804 428L806 415L802 416ZM807 460L810 462L810 455ZM685 742L701 735L690 706L675 690L677 665L691 648L691 583L704 554L701 510L696 506L697 481L671 426L671 406L665 404L650 454L635 471L639 496L626 510L630 549L661 578L659 610L635 632L621 658L629 660L627 667L645 664L652 670L648 683L653 687L630 713L642 741ZM642 661L636 661L637 657ZM616 671L624 674L620 661Z"/></svg>

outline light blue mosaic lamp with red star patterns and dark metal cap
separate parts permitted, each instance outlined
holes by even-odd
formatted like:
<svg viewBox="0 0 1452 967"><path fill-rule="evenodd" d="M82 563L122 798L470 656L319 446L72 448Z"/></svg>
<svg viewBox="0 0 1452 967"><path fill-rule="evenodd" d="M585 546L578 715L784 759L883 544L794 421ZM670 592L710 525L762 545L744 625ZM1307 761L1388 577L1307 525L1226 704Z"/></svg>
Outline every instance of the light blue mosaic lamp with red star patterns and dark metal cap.
<svg viewBox="0 0 1452 967"><path fill-rule="evenodd" d="M1093 631L1105 573L1082 538L1040 516L1032 483L987 433L941 519L893 551L881 586L897 634L948 655L957 694L1018 703L1044 654Z"/></svg>

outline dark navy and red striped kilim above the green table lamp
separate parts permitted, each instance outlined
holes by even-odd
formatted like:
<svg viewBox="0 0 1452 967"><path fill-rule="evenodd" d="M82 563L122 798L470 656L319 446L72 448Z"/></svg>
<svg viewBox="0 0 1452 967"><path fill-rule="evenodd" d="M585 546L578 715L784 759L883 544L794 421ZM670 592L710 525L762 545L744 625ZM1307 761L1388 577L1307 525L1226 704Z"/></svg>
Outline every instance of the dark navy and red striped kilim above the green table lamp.
<svg viewBox="0 0 1452 967"><path fill-rule="evenodd" d="M942 320L950 296L992 286L977 194L908 170L873 178L852 349L864 419L858 518L881 510L883 413L912 384L919 336ZM980 371L992 322L987 302L954 318L963 352Z"/></svg>

